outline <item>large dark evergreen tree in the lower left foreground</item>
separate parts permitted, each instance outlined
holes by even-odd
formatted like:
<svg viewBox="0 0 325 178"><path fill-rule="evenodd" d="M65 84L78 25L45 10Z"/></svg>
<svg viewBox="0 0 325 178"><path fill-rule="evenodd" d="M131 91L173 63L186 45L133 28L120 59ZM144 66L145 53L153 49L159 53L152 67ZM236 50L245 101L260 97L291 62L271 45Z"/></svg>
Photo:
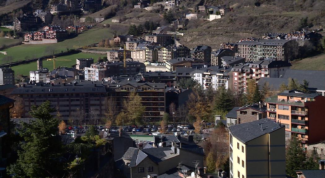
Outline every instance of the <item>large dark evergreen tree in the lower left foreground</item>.
<svg viewBox="0 0 325 178"><path fill-rule="evenodd" d="M58 120L50 114L55 111L50 106L49 101L32 106L29 113L36 120L21 123L23 128L19 135L24 141L20 143L17 161L8 169L15 178L56 177L62 173L63 166L58 159L62 151L57 137Z"/></svg>

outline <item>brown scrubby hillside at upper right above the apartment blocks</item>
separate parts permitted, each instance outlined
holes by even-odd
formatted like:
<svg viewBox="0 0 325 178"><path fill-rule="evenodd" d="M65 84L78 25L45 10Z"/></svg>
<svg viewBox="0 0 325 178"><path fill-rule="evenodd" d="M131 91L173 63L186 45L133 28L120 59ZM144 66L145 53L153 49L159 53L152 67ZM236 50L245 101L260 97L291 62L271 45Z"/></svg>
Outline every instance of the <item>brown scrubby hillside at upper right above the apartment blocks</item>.
<svg viewBox="0 0 325 178"><path fill-rule="evenodd" d="M184 1L188 6L189 1ZM290 32L300 28L301 19L307 17L307 25L311 29L323 28L325 25L325 2L315 0L296 4L280 3L277 0L258 1L212 1L206 0L204 4L226 4L233 8L232 12L221 19L213 21L191 20L185 36L180 42L188 47L197 44L210 45L219 48L220 43L236 42L242 38L261 37L268 32ZM282 1L281 1L282 2ZM184 6L185 6L184 5ZM196 5L192 5L195 7Z"/></svg>

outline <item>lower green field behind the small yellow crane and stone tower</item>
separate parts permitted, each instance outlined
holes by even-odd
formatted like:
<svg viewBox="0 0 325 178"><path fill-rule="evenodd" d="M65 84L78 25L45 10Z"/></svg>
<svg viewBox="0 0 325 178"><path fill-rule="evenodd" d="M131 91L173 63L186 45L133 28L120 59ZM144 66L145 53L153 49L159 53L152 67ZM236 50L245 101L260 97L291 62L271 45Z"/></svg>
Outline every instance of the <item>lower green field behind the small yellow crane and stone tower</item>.
<svg viewBox="0 0 325 178"><path fill-rule="evenodd" d="M59 66L67 66L67 67L71 67L72 65L76 64L76 59L77 58L94 58L94 61L96 62L98 60L99 57L103 58L106 55L103 54L93 54L93 53L78 53L78 54L71 54L71 55L67 55L67 56L61 56L60 58L64 58L64 59L70 59L71 61L56 61L55 65L56 67ZM49 70L53 70L53 61L46 61L43 60L43 67L48 68ZM32 63L28 63L28 64L22 64L22 65L17 65L17 66L13 66L11 67L14 71L15 74L17 75L25 75L25 76L29 76L29 71L32 70L37 70L37 62L32 62Z"/></svg>

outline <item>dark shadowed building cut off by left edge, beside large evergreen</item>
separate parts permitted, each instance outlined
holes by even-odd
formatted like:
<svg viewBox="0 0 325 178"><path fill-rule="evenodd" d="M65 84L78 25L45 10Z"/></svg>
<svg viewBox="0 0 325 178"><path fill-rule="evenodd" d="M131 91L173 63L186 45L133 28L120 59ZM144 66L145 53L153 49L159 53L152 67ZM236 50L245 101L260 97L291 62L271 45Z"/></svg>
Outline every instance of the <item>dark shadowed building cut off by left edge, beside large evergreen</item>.
<svg viewBox="0 0 325 178"><path fill-rule="evenodd" d="M0 95L0 165L6 167L6 160L11 153L8 146L10 135L10 108L14 106L14 100ZM10 157L10 156L9 156Z"/></svg>

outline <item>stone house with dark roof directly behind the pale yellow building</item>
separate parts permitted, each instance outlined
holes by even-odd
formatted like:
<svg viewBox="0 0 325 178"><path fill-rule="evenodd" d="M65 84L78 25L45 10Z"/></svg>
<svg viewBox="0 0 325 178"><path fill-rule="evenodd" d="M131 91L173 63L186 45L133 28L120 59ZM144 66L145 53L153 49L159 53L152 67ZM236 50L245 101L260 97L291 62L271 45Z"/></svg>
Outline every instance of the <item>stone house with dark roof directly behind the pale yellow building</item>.
<svg viewBox="0 0 325 178"><path fill-rule="evenodd" d="M266 107L262 104L249 104L238 108L237 124L248 123L263 118L267 118Z"/></svg>

